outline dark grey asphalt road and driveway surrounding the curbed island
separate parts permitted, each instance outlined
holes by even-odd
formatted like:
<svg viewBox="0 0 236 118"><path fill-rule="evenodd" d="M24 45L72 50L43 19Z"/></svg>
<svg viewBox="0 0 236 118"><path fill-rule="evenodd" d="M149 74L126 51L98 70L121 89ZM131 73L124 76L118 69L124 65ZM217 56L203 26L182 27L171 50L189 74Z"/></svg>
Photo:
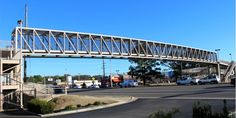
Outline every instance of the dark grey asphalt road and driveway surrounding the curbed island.
<svg viewBox="0 0 236 118"><path fill-rule="evenodd" d="M112 108L56 116L55 118L147 118L149 114L157 110L168 111L172 108L180 110L180 113L176 114L176 118L191 118L192 106L195 102L200 101L201 103L210 104L214 111L221 111L223 99L227 100L229 109L235 109L235 87L229 84L78 89L71 90L69 94L134 96L139 99ZM19 116L24 117L23 115Z"/></svg>

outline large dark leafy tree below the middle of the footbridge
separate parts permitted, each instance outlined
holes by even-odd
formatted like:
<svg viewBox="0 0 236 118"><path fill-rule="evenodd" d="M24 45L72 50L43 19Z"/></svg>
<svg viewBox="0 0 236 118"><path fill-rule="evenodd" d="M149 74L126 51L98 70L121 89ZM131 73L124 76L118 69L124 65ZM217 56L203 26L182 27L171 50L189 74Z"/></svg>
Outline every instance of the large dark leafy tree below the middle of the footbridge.
<svg viewBox="0 0 236 118"><path fill-rule="evenodd" d="M160 64L157 60L129 59L129 62L133 65L129 67L128 74L142 79L144 85L146 85L146 80L150 80L151 77L162 77L161 68L158 67Z"/></svg>

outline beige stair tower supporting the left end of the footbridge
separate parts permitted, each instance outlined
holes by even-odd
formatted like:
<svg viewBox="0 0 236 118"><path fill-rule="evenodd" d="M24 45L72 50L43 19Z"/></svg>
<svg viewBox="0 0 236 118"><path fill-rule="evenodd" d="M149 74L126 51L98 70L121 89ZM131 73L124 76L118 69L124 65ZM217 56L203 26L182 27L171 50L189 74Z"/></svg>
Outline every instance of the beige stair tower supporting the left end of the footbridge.
<svg viewBox="0 0 236 118"><path fill-rule="evenodd" d="M0 111L23 108L21 59L12 48L0 48Z"/></svg>

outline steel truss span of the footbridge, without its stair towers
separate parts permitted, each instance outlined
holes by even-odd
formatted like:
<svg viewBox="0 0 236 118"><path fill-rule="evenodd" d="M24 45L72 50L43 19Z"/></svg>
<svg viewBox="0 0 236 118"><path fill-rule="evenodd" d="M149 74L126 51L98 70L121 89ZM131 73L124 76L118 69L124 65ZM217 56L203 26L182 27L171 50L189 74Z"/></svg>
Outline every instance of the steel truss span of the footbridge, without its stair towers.
<svg viewBox="0 0 236 118"><path fill-rule="evenodd" d="M16 27L12 45L24 57L145 58L217 63L216 52L102 34Z"/></svg>

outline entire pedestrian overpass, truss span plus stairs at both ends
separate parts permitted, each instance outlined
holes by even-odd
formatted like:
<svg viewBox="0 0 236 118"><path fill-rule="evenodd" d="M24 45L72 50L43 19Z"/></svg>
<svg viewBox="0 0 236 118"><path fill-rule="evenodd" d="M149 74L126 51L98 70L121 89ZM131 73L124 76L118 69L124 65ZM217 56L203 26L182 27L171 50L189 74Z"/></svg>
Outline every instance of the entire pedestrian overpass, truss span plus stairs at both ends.
<svg viewBox="0 0 236 118"><path fill-rule="evenodd" d="M224 77L236 71L235 62L219 63L216 52L156 41L25 27L16 27L11 36L11 44L0 49L0 111L3 103L23 108L22 66L27 57L175 60L218 65L218 73L219 65L225 65Z"/></svg>

